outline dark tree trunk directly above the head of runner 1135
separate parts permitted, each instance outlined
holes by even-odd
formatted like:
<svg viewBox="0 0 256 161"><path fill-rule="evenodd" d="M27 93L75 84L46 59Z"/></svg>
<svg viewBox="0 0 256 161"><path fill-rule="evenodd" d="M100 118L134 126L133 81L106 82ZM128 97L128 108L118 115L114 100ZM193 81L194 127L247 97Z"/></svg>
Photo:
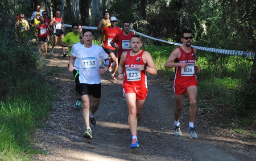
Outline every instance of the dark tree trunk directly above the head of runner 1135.
<svg viewBox="0 0 256 161"><path fill-rule="evenodd" d="M80 0L81 24L89 25L89 0Z"/></svg>

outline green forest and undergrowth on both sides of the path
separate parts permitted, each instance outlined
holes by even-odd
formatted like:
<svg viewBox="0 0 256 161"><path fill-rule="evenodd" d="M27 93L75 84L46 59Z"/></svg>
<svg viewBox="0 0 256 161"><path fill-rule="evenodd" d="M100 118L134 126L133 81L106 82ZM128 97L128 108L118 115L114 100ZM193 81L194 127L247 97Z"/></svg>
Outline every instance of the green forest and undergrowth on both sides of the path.
<svg viewBox="0 0 256 161"><path fill-rule="evenodd" d="M16 142L18 147L29 145L30 131L47 117L54 99L51 97L54 87L45 82L47 72L43 62L37 54L32 54L35 45L32 41L24 44L16 41L16 15L23 13L30 18L37 4L47 11L49 18L60 10L65 24L78 22L82 26L97 26L102 12L108 10L110 16L117 17L119 27L128 20L134 31L157 39L180 43L181 29L190 28L194 32L193 45L256 52L254 0L3 0L0 2L0 139L6 139L7 143L0 143L0 156L10 151L6 146L11 143ZM32 35L31 32L28 39L32 40ZM163 64L176 46L145 37L143 44L152 54L162 81L171 81L174 70L164 69ZM241 127L255 129L255 57L198 50L197 64L202 71L198 75L199 108L221 104L231 110L236 120L235 126L230 128L239 132L245 130ZM24 118L31 118L31 122ZM24 134L20 135L20 131ZM255 130L251 130L251 136L255 138L255 135ZM22 149L20 151L24 152ZM30 151L28 149L26 152Z"/></svg>

